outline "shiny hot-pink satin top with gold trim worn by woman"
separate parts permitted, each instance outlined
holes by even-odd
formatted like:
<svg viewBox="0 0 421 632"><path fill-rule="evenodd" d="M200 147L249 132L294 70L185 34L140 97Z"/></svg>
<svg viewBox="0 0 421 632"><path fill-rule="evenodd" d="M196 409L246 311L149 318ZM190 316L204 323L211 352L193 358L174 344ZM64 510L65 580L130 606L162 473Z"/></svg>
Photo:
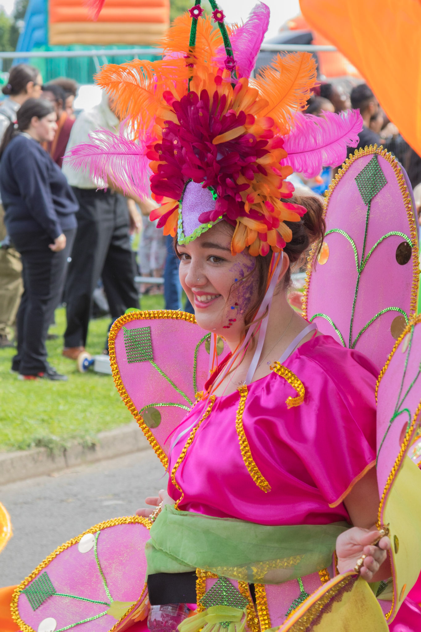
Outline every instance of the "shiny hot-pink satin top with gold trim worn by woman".
<svg viewBox="0 0 421 632"><path fill-rule="evenodd" d="M259 489L242 459L235 427L240 394L216 397L175 472L179 509L261 525L349 520L343 499L376 459L377 368L330 336L317 336L283 362L305 387L304 402L275 372L248 387L242 416L252 458L270 483ZM186 415L177 436L199 420L208 401ZM169 471L190 430L172 447ZM169 481L170 496L181 493Z"/></svg>

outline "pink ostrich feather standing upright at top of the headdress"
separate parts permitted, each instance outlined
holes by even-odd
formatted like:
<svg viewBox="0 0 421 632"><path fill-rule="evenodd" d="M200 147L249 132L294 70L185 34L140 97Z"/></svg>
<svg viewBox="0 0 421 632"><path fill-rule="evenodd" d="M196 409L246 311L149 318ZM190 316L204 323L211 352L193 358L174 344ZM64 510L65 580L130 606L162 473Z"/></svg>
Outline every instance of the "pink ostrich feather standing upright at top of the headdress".
<svg viewBox="0 0 421 632"><path fill-rule="evenodd" d="M254 6L242 27L236 28L230 35L235 65L239 68L240 77L249 77L256 66L260 45L268 30L269 18L269 7L259 2ZM225 68L226 57L225 48L220 46L215 56L215 62L220 68Z"/></svg>

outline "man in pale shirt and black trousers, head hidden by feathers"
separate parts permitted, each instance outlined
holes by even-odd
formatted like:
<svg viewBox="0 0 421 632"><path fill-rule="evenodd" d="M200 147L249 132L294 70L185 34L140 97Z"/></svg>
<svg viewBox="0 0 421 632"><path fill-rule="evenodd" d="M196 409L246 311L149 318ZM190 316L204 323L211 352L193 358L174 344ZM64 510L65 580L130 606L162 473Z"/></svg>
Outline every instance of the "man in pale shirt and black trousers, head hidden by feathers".
<svg viewBox="0 0 421 632"><path fill-rule="evenodd" d="M117 131L119 119L110 104L112 100L103 92L98 106L81 112L74 122L66 151L90 142L89 134L100 128ZM67 327L62 351L66 358L76 360L85 351L93 291L100 277L113 321L127 308L139 307L130 230L138 227L140 217L136 218L133 207L129 212L126 198L116 191L98 190L104 183L94 181L87 169L73 169L64 159L62 171L80 205L64 294Z"/></svg>

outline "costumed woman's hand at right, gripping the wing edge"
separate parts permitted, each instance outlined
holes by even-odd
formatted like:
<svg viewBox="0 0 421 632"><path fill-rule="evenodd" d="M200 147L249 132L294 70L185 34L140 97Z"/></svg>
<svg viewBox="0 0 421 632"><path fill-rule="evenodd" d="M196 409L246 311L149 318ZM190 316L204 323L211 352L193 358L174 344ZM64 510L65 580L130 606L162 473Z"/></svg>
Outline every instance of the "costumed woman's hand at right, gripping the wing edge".
<svg viewBox="0 0 421 632"><path fill-rule="evenodd" d="M346 573L352 570L357 565L360 557L365 555L360 574L365 580L373 581L374 575L386 560L388 550L391 547L390 540L386 536L382 537L376 546L372 544L376 542L380 535L381 533L377 531L375 526L370 530L353 526L351 529L341 533L336 540L338 571ZM384 578L387 579L389 576L390 570L388 569ZM379 578L377 577L374 581L379 581Z"/></svg>

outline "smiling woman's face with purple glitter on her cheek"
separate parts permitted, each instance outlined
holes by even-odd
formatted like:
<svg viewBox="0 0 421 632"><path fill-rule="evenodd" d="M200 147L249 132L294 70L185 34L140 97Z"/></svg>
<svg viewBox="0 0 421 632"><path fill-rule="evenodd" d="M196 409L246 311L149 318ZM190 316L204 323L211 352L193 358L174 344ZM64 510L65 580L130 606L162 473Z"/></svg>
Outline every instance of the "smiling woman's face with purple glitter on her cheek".
<svg viewBox="0 0 421 632"><path fill-rule="evenodd" d="M177 245L181 285L199 327L228 341L239 339L244 317L258 295L256 258L247 250L233 256L232 234L232 227L222 221L194 241Z"/></svg>

